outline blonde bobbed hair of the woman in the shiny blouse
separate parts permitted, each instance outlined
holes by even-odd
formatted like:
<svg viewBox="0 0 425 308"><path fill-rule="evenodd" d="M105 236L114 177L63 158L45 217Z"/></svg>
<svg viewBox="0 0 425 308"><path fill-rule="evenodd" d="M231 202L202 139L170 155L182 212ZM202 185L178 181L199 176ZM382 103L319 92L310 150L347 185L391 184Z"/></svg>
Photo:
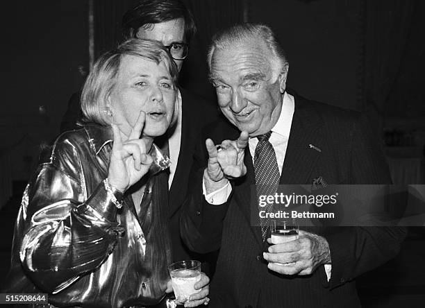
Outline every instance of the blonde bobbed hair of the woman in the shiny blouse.
<svg viewBox="0 0 425 308"><path fill-rule="evenodd" d="M172 77L174 91L177 92L178 69L167 49L159 42L140 39L127 40L117 46L116 49L103 53L94 63L88 78L85 80L81 93L81 110L83 110L84 122L94 122L103 126L110 125L106 114L106 102L115 87L119 67L125 55L135 55L153 60L156 64L163 62ZM176 120L177 113L178 108L174 105L172 123Z"/></svg>

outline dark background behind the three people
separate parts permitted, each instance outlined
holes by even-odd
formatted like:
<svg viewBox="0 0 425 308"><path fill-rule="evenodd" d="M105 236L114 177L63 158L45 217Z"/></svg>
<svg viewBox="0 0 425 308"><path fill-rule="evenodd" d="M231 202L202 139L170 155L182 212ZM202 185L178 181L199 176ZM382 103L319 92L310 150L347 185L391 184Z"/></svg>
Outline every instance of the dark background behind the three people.
<svg viewBox="0 0 425 308"><path fill-rule="evenodd" d="M288 85L308 99L366 112L393 181L425 184L425 3L420 0L183 0L198 34L181 83L215 103L206 47L236 22L272 26L288 53ZM0 277L19 198L40 144L51 142L90 61L111 48L133 0L3 1L0 111ZM92 24L89 16L93 17ZM90 35L90 25L94 35ZM89 42L93 42L90 57ZM358 280L365 307L422 307L425 239L410 228L397 259Z"/></svg>

